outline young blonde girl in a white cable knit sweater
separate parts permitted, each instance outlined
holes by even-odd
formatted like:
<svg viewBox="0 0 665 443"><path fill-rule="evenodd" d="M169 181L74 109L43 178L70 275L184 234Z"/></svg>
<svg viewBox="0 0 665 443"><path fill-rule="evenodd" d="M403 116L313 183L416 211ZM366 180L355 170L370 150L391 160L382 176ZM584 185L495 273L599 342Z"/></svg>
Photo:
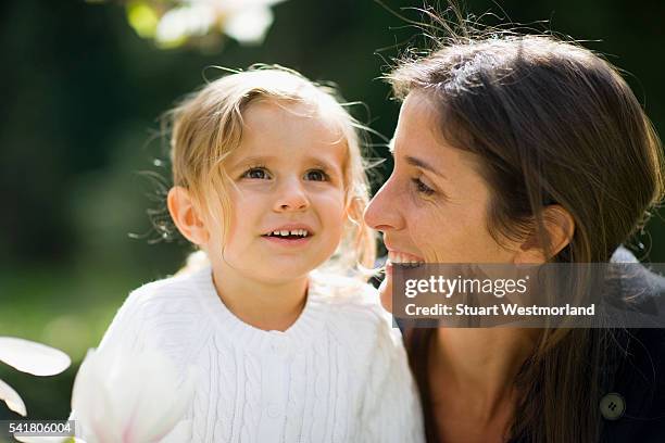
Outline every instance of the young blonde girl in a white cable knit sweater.
<svg viewBox="0 0 665 443"><path fill-rule="evenodd" d="M168 211L208 261L134 291L100 347L195 367L192 441L422 441L399 331L351 267L319 269L374 257L352 117L277 67L225 76L168 115Z"/></svg>

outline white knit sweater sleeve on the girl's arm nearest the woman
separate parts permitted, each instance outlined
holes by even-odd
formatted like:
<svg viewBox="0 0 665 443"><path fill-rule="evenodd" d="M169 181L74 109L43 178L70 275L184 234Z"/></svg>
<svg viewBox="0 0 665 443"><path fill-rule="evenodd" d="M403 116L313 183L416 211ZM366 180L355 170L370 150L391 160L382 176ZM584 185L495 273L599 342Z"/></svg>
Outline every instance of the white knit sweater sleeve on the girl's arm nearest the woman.
<svg viewBox="0 0 665 443"><path fill-rule="evenodd" d="M381 321L363 398L362 442L425 441L421 404L399 329Z"/></svg>

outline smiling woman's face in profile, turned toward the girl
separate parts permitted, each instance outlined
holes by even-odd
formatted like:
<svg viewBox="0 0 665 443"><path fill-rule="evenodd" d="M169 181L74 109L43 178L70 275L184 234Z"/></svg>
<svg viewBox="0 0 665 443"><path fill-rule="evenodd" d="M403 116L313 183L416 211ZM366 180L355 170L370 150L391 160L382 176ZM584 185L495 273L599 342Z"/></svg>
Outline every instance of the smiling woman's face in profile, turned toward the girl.
<svg viewBox="0 0 665 443"><path fill-rule="evenodd" d="M425 94L409 94L393 139L394 169L365 211L365 221L384 232L393 263L513 263L513 252L488 231L490 191L473 154L448 145L439 124ZM390 283L388 273L384 288ZM381 293L387 307L389 292Z"/></svg>

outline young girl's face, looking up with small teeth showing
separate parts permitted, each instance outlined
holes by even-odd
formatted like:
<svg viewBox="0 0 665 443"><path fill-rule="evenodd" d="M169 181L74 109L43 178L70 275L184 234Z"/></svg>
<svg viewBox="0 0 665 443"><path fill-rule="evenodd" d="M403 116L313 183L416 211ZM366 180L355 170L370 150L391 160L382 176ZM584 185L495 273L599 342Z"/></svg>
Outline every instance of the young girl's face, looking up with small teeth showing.
<svg viewBox="0 0 665 443"><path fill-rule="evenodd" d="M256 102L225 161L233 207L226 244L212 229L213 266L264 282L305 276L337 249L346 219L347 145L334 122L305 104Z"/></svg>

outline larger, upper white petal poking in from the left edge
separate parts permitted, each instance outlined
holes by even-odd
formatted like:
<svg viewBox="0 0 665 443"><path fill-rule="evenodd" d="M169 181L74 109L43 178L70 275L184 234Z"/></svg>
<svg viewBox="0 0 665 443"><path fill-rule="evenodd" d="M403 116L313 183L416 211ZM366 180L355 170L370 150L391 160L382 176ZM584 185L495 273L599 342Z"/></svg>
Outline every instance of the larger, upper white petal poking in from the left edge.
<svg viewBox="0 0 665 443"><path fill-rule="evenodd" d="M72 363L62 351L14 337L0 337L0 360L34 376L54 376Z"/></svg>

